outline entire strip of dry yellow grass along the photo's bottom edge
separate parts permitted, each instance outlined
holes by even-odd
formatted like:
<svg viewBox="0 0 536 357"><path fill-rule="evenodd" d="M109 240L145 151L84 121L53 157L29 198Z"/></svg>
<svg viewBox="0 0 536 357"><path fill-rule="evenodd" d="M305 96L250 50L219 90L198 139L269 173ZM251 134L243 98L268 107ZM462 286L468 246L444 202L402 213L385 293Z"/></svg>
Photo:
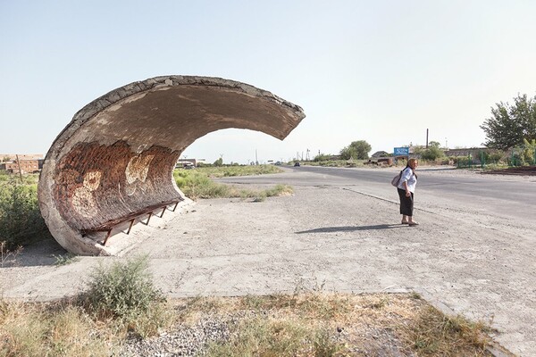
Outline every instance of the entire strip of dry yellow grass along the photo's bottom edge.
<svg viewBox="0 0 536 357"><path fill-rule="evenodd" d="M490 355L484 323L446 316L416 294L197 297L159 308L186 326L230 321L230 337L209 341L207 356ZM143 316L152 320L155 312ZM131 331L154 336L165 327L171 325L98 318L76 302L0 301L0 356L119 355Z"/></svg>

